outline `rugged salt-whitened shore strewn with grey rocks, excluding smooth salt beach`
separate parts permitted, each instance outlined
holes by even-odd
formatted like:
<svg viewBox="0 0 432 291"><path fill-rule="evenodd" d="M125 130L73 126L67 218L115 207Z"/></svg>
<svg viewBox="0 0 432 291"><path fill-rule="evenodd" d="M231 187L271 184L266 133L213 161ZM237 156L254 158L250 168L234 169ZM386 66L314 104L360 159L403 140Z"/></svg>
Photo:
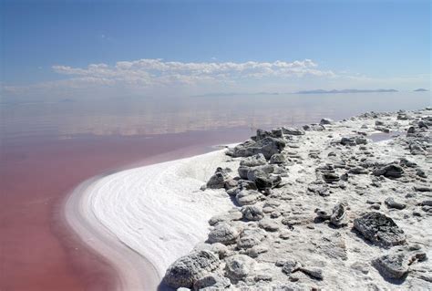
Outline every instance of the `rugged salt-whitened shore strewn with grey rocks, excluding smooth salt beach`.
<svg viewBox="0 0 432 291"><path fill-rule="evenodd" d="M257 130L202 192L232 209L164 282L193 290L430 290L432 109ZM379 140L379 141L376 141ZM233 162L235 161L235 162ZM232 163L231 163L232 162Z"/></svg>

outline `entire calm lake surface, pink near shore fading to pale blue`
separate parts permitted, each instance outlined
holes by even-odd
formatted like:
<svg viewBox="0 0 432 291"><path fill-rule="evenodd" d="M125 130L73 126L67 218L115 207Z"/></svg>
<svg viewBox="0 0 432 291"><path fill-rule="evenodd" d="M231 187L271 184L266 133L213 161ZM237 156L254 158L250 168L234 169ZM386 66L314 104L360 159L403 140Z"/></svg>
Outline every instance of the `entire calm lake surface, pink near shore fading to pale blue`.
<svg viewBox="0 0 432 291"><path fill-rule="evenodd" d="M0 290L109 290L116 275L59 220L79 182L241 141L256 128L420 109L429 92L178 99L2 99Z"/></svg>

